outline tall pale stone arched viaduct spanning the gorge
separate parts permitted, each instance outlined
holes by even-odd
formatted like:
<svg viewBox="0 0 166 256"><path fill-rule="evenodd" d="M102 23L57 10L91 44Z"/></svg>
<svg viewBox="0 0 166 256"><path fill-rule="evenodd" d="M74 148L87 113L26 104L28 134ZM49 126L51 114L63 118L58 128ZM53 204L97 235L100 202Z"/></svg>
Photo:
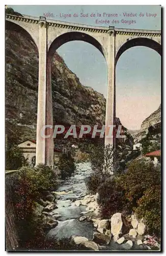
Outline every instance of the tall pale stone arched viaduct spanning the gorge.
<svg viewBox="0 0 166 256"><path fill-rule="evenodd" d="M63 44L73 40L86 41L96 47L107 63L107 96L105 125L115 120L116 64L123 52L134 46L146 46L161 55L161 31L97 27L60 22L45 17L15 16L6 14L6 26L22 33L29 33L39 52L38 114L36 136L36 165L53 166L53 138L43 139L42 127L53 125L51 61L54 52ZM46 130L46 133L53 133ZM105 138L105 144L114 144L114 139Z"/></svg>

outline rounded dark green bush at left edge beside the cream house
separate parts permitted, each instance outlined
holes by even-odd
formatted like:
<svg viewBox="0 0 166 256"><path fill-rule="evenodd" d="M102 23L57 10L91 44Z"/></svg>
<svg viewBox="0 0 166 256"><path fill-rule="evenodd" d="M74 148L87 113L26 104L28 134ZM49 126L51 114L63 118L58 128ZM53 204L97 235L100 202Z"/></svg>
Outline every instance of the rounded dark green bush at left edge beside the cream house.
<svg viewBox="0 0 166 256"><path fill-rule="evenodd" d="M10 145L6 152L6 169L16 170L26 164L22 151L14 145Z"/></svg>

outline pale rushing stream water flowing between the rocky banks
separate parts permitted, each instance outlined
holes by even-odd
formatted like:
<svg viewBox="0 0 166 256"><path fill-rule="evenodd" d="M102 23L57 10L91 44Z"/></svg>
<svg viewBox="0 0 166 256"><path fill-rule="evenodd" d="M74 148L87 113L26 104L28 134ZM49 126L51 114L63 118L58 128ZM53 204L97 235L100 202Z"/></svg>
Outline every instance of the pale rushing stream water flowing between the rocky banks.
<svg viewBox="0 0 166 256"><path fill-rule="evenodd" d="M92 168L90 163L79 163L72 177L60 183L57 199L57 209L52 210L52 215L59 216L58 226L51 229L48 234L48 239L63 239L71 236L82 236L89 240L93 238L93 232L96 228L92 222L79 221L79 218L84 215L86 206L75 206L74 201L83 199L87 194L85 179L91 174ZM101 250L124 250L122 245L115 243L113 240L108 246L101 246ZM136 244L132 250L141 250Z"/></svg>

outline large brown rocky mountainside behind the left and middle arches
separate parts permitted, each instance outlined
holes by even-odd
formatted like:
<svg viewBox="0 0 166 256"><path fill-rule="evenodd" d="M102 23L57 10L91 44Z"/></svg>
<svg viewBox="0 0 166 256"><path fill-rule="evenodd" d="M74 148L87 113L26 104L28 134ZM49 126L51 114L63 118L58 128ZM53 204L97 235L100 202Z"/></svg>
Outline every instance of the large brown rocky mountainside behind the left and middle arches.
<svg viewBox="0 0 166 256"><path fill-rule="evenodd" d="M33 40L11 24L6 26L6 134L18 143L36 139L38 94L38 50ZM56 52L52 61L54 124L104 124L104 96L82 86L79 78ZM121 124L117 119L117 124ZM124 129L129 144L132 136ZM127 139L128 140L128 139Z"/></svg>

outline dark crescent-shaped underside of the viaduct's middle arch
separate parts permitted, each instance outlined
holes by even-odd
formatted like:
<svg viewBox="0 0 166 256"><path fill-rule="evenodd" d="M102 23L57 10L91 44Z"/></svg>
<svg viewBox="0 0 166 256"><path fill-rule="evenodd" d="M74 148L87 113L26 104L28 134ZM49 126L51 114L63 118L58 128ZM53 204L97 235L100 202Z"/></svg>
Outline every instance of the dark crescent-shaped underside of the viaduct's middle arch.
<svg viewBox="0 0 166 256"><path fill-rule="evenodd" d="M53 53L62 45L64 45L66 42L69 41L85 41L89 42L89 44L96 47L104 56L105 58L105 52L101 44L93 37L88 34L82 33L82 32L67 32L60 36L58 36L56 39L53 40L52 44L49 47L48 50L48 58L51 59L53 56Z"/></svg>

